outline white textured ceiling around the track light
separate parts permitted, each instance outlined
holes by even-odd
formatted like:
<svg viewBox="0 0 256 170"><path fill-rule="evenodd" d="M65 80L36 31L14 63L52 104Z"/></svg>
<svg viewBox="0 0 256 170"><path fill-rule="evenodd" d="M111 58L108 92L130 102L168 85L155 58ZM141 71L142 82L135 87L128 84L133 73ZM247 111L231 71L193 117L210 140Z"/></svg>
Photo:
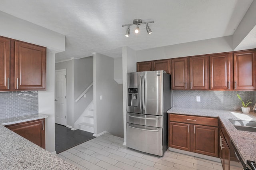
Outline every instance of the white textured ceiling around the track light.
<svg viewBox="0 0 256 170"><path fill-rule="evenodd" d="M56 61L92 52L121 57L122 47L161 47L234 33L253 0L1 0L0 10L66 36ZM124 36L140 18L149 24ZM255 29L254 29L255 30ZM255 37L255 35L253 36Z"/></svg>

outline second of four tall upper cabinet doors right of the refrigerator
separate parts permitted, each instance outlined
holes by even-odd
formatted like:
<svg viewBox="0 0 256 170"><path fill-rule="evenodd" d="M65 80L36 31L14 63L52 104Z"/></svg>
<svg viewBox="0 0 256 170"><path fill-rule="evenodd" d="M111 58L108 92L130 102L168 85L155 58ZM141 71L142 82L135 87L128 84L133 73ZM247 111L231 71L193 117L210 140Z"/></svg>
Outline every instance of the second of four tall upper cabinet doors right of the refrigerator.
<svg viewBox="0 0 256 170"><path fill-rule="evenodd" d="M190 57L190 89L208 89L208 57Z"/></svg>

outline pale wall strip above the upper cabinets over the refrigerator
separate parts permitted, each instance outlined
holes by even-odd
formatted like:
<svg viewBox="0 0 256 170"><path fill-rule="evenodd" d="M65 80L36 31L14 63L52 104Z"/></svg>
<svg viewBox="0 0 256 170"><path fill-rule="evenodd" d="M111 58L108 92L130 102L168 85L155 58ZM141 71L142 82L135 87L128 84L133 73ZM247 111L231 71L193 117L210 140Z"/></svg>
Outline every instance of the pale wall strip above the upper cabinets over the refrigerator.
<svg viewBox="0 0 256 170"><path fill-rule="evenodd" d="M137 62L233 51L232 36L136 51Z"/></svg>

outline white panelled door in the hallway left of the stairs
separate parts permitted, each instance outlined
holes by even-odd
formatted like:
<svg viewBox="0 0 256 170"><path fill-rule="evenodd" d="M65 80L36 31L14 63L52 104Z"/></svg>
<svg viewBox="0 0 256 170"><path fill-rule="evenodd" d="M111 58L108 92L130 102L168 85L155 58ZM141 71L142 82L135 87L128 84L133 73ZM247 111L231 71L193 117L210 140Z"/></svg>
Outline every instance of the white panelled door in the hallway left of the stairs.
<svg viewBox="0 0 256 170"><path fill-rule="evenodd" d="M55 70L55 123L67 125L66 69Z"/></svg>

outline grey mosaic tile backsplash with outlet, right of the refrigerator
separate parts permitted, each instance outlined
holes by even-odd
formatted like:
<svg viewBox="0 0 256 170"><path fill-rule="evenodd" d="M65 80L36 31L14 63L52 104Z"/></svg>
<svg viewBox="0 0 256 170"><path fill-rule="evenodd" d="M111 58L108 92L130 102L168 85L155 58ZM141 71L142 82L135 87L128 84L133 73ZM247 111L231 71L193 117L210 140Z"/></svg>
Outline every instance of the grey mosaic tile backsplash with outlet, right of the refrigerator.
<svg viewBox="0 0 256 170"><path fill-rule="evenodd" d="M219 109L241 111L241 101L236 96L238 93L244 102L252 99L248 107L252 108L256 102L256 91L185 91L173 90L173 107L192 109ZM196 102L200 96L201 102Z"/></svg>

